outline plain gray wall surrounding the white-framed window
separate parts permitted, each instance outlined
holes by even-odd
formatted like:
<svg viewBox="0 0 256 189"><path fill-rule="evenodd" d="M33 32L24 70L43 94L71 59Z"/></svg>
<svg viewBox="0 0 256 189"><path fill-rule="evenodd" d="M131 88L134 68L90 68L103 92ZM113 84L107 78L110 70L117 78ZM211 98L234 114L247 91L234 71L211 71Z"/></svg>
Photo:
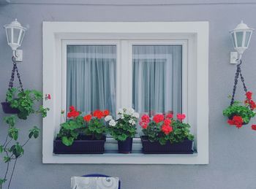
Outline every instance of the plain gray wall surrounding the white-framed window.
<svg viewBox="0 0 256 189"><path fill-rule="evenodd" d="M48 1L49 2L49 1ZM106 1L107 2L107 1ZM118 3L119 1L111 1ZM135 2L135 1L133 1ZM229 64L233 50L228 31L244 20L256 28L255 3L146 5L70 5L7 4L0 6L0 26L18 18L29 31L23 40L24 61L19 65L26 88L42 90L42 21L200 21L210 23L209 40L209 157L208 165L50 165L42 164L42 136L31 142L20 158L12 188L69 188L70 177L89 173L116 175L122 188L256 188L256 133L250 126L236 129L225 124L222 109L229 104L236 66ZM170 1L171 2L171 1ZM173 2L173 1L172 1ZM182 1L183 3L189 1ZM197 1L200 2L200 1ZM212 2L212 1L211 1ZM221 1L216 1L221 2ZM240 2L240 3L239 3ZM97 1L95 1L97 3ZM256 93L256 34L244 53L243 72L249 90ZM4 29L0 29L0 99L4 100L10 79L12 52ZM241 87L241 85L239 85ZM242 89L238 88L238 97ZM200 107L198 107L200 108ZM0 112L0 118L4 117ZM255 121L255 120L254 120ZM255 121L256 123L256 121ZM29 117L19 121L23 136L26 129L42 120ZM3 141L6 126L0 126ZM0 163L0 174L4 164Z"/></svg>

